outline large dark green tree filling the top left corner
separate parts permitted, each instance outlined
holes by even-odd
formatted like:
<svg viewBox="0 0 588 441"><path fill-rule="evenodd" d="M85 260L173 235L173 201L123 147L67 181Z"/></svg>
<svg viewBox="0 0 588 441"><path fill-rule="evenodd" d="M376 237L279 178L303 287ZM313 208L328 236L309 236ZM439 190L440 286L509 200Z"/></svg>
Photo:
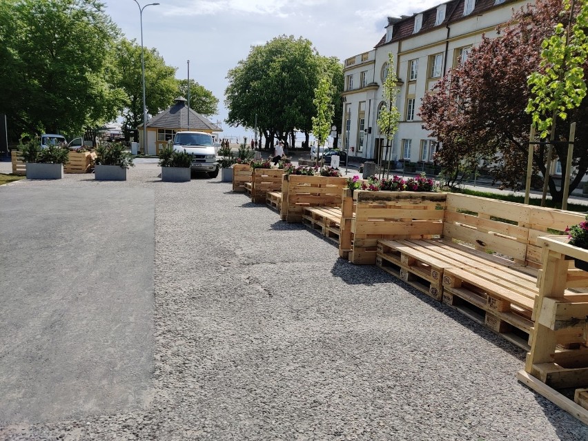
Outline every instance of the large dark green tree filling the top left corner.
<svg viewBox="0 0 588 441"><path fill-rule="evenodd" d="M0 113L14 133L73 135L124 106L110 51L119 30L96 0L0 2Z"/></svg>

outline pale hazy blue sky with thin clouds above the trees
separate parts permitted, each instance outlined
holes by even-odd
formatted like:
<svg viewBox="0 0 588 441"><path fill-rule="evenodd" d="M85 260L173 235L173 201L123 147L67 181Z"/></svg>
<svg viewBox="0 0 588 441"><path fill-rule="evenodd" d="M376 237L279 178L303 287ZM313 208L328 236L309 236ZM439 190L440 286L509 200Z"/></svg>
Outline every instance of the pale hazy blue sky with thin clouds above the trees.
<svg viewBox="0 0 588 441"><path fill-rule="evenodd" d="M103 0L106 12L128 39L141 43L139 6L134 0ZM138 0L141 6L153 0ZM159 0L143 11L143 41L155 48L176 77L190 78L219 99L222 136L248 136L252 130L224 123L226 74L246 59L251 46L279 35L312 41L320 55L341 61L371 50L385 33L389 16L411 15L443 3L442 0L402 2L382 0ZM148 91L147 91L148 93Z"/></svg>

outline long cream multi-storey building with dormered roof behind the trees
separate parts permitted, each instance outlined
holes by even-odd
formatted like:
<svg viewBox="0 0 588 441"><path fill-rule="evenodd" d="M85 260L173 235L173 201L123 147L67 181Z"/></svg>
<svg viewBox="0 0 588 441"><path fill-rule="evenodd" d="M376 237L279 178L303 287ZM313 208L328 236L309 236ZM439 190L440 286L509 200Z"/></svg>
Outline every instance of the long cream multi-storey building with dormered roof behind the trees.
<svg viewBox="0 0 588 441"><path fill-rule="evenodd" d="M394 55L400 92L396 106L400 125L391 159L431 162L435 139L422 129L418 111L427 90L447 71L467 58L482 35L496 37L496 27L508 21L528 0L453 0L412 17L389 18L386 35L373 50L344 63L343 146L349 155L378 160L386 156L386 139L378 130L378 109L384 106L382 84L388 54Z"/></svg>

